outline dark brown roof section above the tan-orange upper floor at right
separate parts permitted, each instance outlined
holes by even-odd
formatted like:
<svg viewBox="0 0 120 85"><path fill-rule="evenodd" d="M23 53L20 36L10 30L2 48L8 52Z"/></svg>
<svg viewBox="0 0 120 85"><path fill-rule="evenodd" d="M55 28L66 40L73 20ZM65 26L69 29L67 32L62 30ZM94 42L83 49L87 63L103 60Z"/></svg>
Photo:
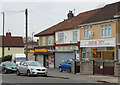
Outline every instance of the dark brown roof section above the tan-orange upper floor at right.
<svg viewBox="0 0 120 85"><path fill-rule="evenodd" d="M105 7L101 8L101 10L85 20L82 24L114 19L114 15L119 11L120 2L106 5Z"/></svg>

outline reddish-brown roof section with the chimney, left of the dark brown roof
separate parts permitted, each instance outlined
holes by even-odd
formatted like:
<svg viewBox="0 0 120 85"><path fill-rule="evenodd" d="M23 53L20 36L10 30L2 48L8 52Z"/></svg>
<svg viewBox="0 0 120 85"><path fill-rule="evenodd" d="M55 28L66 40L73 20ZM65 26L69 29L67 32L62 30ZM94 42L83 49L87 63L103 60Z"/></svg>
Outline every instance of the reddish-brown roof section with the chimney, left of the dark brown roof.
<svg viewBox="0 0 120 85"><path fill-rule="evenodd" d="M65 30L69 28L74 28L81 24L84 20L88 19L92 14L96 13L99 9L87 11L84 13L80 13L79 15L75 16L71 21L70 20L64 20L38 34L35 34L35 36L43 36L48 34L53 34L55 31L58 30Z"/></svg>

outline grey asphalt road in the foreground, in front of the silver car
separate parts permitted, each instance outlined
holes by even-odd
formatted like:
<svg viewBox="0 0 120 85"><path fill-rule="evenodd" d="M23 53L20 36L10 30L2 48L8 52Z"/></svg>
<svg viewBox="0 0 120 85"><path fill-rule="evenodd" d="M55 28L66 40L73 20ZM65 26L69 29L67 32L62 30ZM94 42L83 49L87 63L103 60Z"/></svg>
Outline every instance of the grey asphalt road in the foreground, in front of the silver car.
<svg viewBox="0 0 120 85"><path fill-rule="evenodd" d="M78 81L55 78L55 77L42 77L42 76L32 76L27 77L26 75L16 76L16 74L3 74L3 83L77 83Z"/></svg>

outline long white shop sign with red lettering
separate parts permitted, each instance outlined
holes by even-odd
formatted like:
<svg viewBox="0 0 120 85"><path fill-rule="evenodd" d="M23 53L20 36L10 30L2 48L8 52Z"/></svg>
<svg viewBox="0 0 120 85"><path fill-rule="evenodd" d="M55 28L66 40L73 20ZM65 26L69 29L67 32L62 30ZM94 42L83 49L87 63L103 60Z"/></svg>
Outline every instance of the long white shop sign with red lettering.
<svg viewBox="0 0 120 85"><path fill-rule="evenodd" d="M104 47L104 46L108 47L115 45L116 45L115 38L80 41L80 47Z"/></svg>

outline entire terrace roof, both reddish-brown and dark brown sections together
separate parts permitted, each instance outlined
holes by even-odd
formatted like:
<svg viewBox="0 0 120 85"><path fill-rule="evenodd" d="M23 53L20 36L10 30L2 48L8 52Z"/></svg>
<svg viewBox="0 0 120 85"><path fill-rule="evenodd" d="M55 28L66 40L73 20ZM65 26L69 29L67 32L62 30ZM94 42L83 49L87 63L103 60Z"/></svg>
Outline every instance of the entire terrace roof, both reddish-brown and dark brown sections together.
<svg viewBox="0 0 120 85"><path fill-rule="evenodd" d="M38 34L35 36L43 36L48 34L54 34L55 31L65 30L70 28L75 28L80 24L99 22L104 20L114 19L114 15L120 11L120 2L106 5L103 8L87 11L80 13L75 16L73 20L64 20Z"/></svg>

